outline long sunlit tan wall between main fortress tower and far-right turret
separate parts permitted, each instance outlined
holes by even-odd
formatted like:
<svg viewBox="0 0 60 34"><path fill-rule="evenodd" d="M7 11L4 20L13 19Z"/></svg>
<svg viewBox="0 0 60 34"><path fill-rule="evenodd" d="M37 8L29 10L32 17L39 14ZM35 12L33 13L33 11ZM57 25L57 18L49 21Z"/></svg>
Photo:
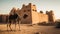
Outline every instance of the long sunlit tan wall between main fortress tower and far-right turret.
<svg viewBox="0 0 60 34"><path fill-rule="evenodd" d="M48 15L32 11L32 23L48 23Z"/></svg>

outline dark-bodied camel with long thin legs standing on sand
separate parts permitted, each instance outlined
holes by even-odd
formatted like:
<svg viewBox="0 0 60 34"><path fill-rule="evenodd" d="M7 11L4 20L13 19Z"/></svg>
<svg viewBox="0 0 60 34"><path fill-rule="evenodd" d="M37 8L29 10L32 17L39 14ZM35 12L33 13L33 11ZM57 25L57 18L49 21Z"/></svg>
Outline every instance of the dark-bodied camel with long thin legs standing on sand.
<svg viewBox="0 0 60 34"><path fill-rule="evenodd" d="M15 24L15 30L16 30L16 24L18 23L19 26L19 31L20 31L20 21L21 19L19 18L19 16L15 13L14 15L9 15L8 17L8 23L7 23L7 30L8 27L10 28L10 30L12 30L11 25L12 23Z"/></svg>

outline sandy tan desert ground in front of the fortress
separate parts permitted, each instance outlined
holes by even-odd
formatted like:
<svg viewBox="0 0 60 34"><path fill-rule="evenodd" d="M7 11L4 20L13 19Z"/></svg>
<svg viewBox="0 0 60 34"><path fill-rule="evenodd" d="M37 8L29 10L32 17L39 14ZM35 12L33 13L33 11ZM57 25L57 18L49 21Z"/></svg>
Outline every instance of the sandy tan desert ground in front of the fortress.
<svg viewBox="0 0 60 34"><path fill-rule="evenodd" d="M8 28L7 31L7 24L0 24L0 34L60 34L60 29L55 28L55 26L20 24L20 31L18 25L15 31L14 24L12 24L12 29L10 31Z"/></svg>

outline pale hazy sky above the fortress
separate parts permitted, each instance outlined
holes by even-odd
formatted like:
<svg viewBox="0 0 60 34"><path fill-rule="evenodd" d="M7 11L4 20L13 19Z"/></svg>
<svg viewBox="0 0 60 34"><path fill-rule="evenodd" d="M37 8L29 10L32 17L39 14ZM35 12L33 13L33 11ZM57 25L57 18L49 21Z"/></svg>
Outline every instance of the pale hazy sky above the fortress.
<svg viewBox="0 0 60 34"><path fill-rule="evenodd" d="M60 18L60 0L0 0L0 14L9 14L13 7L22 8L22 5L35 4L37 11L53 10L55 18Z"/></svg>

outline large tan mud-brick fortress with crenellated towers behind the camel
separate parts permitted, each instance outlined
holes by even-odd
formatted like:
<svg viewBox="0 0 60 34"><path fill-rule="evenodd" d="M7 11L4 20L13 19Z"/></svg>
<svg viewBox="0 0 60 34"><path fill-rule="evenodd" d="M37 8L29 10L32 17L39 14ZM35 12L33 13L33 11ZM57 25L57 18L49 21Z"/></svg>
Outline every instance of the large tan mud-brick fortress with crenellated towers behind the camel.
<svg viewBox="0 0 60 34"><path fill-rule="evenodd" d="M55 17L52 10L46 11L46 14L43 11L37 12L36 5L29 3L28 5L23 4L21 9L13 8L10 14L16 12L21 18L22 24L36 24L36 23L54 23Z"/></svg>

